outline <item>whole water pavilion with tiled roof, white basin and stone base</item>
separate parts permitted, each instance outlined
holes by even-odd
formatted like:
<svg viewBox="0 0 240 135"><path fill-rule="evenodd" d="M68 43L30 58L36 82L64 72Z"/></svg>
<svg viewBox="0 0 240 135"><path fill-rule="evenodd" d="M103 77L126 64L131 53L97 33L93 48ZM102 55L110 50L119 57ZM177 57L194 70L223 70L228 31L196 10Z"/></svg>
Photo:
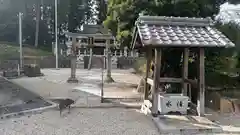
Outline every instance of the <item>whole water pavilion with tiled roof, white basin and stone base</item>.
<svg viewBox="0 0 240 135"><path fill-rule="evenodd" d="M146 54L144 102L141 111L145 114L152 114L152 119L161 133L196 134L201 131L200 133L210 132L213 134L222 131L220 126L204 117L204 51L205 48L234 46L226 36L213 27L213 21L210 18L140 16L137 19L132 48L140 48ZM160 69L163 66L162 54L165 48L182 48L181 77L160 75ZM189 52L192 49L198 50L196 56L198 77L196 80L190 79L188 74ZM175 56L172 54L172 57ZM153 58L154 73L151 78L149 72ZM181 84L179 88L181 92L173 94L163 91L161 87L163 83ZM197 89L192 91L191 86ZM197 93L197 103L194 105L191 102L191 93ZM195 110L196 114L190 114L189 110ZM181 115L169 115L169 112L178 112Z"/></svg>

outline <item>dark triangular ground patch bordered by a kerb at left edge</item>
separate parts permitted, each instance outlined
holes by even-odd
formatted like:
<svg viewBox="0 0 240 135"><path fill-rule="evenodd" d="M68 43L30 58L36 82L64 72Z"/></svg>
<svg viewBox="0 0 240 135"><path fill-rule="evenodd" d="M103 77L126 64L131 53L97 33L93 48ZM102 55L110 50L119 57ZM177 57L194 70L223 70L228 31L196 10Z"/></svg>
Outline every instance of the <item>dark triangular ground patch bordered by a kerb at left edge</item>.
<svg viewBox="0 0 240 135"><path fill-rule="evenodd" d="M51 105L39 95L0 77L0 116Z"/></svg>

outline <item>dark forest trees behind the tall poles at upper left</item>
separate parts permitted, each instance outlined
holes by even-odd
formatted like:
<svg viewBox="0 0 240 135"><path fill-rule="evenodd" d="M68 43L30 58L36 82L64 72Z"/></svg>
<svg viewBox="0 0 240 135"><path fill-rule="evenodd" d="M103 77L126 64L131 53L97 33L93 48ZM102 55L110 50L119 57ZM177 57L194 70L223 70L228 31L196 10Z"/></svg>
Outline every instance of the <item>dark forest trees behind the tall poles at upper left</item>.
<svg viewBox="0 0 240 135"><path fill-rule="evenodd" d="M93 0L58 0L58 31L76 31L93 22ZM0 3L0 40L18 43L18 12L23 13L23 41L34 45L37 5L40 5L38 44L51 48L54 41L54 0L3 0ZM3 8L4 7L4 8Z"/></svg>

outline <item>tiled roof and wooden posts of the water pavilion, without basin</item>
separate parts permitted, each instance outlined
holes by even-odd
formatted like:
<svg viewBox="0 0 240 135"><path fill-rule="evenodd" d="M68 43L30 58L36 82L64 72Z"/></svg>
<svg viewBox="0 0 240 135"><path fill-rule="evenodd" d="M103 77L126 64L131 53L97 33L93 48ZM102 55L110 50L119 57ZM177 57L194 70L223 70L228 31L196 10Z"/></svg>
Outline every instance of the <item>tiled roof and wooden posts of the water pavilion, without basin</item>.
<svg viewBox="0 0 240 135"><path fill-rule="evenodd" d="M210 18L182 18L164 16L140 16L136 21L133 36L133 48L146 50L146 74L144 102L151 103L151 113L155 117L159 111L160 83L182 84L182 96L187 97L187 85L196 85L198 89L197 112L205 114L205 65L204 49L208 47L234 47L235 45L217 29L212 27ZM183 69L181 78L160 77L163 48L183 48ZM190 49L198 49L198 80L188 78L188 60ZM152 50L155 50L154 77L149 77ZM174 57L174 54L173 54ZM152 86L152 100L149 100L149 85ZM188 103L187 103L188 104ZM147 106L147 105L146 105ZM167 106L167 105L166 105ZM150 107L149 107L150 108ZM187 110L187 108L186 108ZM161 112L160 112L161 113Z"/></svg>

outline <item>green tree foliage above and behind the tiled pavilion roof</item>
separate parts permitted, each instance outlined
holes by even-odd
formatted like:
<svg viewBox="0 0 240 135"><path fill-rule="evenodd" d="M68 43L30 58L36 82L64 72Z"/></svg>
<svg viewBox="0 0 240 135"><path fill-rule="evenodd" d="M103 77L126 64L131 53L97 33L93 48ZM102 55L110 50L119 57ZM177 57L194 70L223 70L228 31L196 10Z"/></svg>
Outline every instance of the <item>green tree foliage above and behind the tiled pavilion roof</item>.
<svg viewBox="0 0 240 135"><path fill-rule="evenodd" d="M139 14L180 17L214 17L225 0L109 0L107 17L104 25L117 36L121 46L129 46L132 39L134 23ZM221 26L222 27L222 26ZM224 31L224 28L219 28ZM226 30L225 30L226 31ZM230 31L229 31L230 32ZM235 35L226 33L235 41ZM232 36L232 37L231 37ZM164 49L162 57L162 75L181 76L182 49ZM190 78L197 77L196 53L192 50ZM173 56L174 54L174 56ZM221 74L233 68L234 51L223 49L206 49L206 75ZM216 77L215 76L215 77ZM208 78L208 77L206 77ZM211 84L211 81L206 81ZM210 83L209 83L210 82Z"/></svg>

